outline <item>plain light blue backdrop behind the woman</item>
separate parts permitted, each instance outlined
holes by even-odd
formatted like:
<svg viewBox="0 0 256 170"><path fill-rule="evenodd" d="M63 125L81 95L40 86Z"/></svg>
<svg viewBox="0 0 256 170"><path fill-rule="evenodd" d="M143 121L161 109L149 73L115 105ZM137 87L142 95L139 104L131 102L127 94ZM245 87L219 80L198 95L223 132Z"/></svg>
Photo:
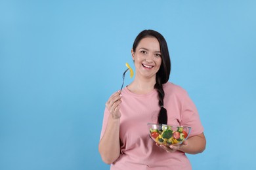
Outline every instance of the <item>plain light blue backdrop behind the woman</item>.
<svg viewBox="0 0 256 170"><path fill-rule="evenodd" d="M104 106L142 29L166 38L170 81L200 112L207 148L188 155L193 169L256 169L255 9L253 0L0 1L0 169L109 169L98 154Z"/></svg>

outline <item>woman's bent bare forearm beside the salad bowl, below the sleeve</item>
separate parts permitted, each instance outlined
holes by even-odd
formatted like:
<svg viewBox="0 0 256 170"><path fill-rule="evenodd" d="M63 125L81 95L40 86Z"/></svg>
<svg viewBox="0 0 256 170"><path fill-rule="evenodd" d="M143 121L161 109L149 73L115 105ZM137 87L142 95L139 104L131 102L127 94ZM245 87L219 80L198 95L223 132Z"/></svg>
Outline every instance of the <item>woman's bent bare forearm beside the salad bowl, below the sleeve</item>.
<svg viewBox="0 0 256 170"><path fill-rule="evenodd" d="M198 154L205 150L206 140L203 133L196 135L187 139L187 144L179 148L182 152L188 154Z"/></svg>

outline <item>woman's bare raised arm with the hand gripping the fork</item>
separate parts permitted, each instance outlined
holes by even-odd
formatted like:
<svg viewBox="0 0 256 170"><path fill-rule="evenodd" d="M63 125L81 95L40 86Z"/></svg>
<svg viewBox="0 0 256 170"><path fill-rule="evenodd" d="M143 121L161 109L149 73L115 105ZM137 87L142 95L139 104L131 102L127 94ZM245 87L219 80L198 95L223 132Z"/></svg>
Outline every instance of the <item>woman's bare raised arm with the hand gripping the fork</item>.
<svg viewBox="0 0 256 170"><path fill-rule="evenodd" d="M98 144L98 150L100 156L105 163L111 164L120 154L119 143L119 124L121 114L119 112L121 103L120 92L114 93L106 103L107 109L110 111L108 116L108 124L100 143Z"/></svg>

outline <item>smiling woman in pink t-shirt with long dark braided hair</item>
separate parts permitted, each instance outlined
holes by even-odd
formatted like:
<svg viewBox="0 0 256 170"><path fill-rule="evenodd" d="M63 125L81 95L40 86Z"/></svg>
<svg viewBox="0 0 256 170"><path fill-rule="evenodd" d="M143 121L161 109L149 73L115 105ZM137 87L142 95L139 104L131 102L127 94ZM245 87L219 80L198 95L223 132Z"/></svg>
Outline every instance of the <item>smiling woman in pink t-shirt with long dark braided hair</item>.
<svg viewBox="0 0 256 170"><path fill-rule="evenodd" d="M135 39L131 56L135 79L106 102L99 152L111 169L192 169L185 153L205 149L203 126L185 90L168 82L171 61L167 43L154 30ZM190 126L180 146L155 144L147 123Z"/></svg>

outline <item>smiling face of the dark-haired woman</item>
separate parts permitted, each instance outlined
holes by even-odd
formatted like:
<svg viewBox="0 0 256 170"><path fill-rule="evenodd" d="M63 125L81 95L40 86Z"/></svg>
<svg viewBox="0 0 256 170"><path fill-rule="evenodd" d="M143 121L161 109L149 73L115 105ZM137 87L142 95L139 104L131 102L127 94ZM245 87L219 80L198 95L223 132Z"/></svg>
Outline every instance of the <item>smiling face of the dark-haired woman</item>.
<svg viewBox="0 0 256 170"><path fill-rule="evenodd" d="M145 78L156 78L161 66L161 52L158 39L146 37L140 40L136 51L131 50L135 61L136 75Z"/></svg>

